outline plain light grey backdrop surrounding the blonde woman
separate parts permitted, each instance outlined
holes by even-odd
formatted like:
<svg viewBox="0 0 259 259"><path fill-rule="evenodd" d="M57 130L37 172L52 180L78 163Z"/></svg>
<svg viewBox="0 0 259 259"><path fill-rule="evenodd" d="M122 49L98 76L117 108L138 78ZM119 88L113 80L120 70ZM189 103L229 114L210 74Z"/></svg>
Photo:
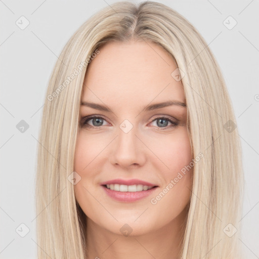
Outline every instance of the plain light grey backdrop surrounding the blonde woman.
<svg viewBox="0 0 259 259"><path fill-rule="evenodd" d="M36 258L36 145L48 80L74 31L114 2L0 0L0 258ZM245 258L259 258L258 0L157 2L175 9L198 29L222 69L243 148L245 196L240 246ZM17 20L25 25L21 16L29 21L25 29L16 25ZM237 21L232 29L223 23L229 16ZM228 26L233 22L230 20ZM23 133L16 127L21 120L29 125ZM29 229L27 235L21 224Z"/></svg>

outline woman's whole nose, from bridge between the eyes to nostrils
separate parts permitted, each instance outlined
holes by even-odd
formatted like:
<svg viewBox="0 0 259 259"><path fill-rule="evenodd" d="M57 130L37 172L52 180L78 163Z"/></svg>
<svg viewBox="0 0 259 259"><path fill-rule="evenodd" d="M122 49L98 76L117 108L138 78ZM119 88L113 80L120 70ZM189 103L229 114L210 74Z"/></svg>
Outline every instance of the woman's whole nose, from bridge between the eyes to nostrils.
<svg viewBox="0 0 259 259"><path fill-rule="evenodd" d="M142 164L145 155L143 144L137 137L138 126L125 119L119 124L117 135L112 152L112 162L122 166Z"/></svg>

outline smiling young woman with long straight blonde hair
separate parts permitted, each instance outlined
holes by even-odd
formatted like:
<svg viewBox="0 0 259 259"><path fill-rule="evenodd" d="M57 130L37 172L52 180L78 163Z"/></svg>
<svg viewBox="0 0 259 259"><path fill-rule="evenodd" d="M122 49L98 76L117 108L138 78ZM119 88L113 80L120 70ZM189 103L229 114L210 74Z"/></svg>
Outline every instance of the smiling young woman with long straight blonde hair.
<svg viewBox="0 0 259 259"><path fill-rule="evenodd" d="M234 112L197 30L155 2L85 22L51 76L37 171L39 258L238 258Z"/></svg>

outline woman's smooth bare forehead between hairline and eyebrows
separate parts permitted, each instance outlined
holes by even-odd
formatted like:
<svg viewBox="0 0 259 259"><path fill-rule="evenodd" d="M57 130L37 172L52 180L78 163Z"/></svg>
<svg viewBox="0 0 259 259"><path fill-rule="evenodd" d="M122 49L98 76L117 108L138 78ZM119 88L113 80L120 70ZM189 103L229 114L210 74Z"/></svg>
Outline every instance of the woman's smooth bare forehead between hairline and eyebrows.
<svg viewBox="0 0 259 259"><path fill-rule="evenodd" d="M153 42L110 42L91 61L84 78L82 100L109 105L178 100L184 102L180 81L171 73L174 59Z"/></svg>

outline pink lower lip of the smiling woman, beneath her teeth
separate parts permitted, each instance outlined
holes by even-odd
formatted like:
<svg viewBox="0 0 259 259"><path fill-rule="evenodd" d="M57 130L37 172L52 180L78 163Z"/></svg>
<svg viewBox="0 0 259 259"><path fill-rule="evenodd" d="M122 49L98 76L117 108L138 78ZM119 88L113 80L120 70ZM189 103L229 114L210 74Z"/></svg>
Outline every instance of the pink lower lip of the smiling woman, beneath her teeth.
<svg viewBox="0 0 259 259"><path fill-rule="evenodd" d="M149 196L154 190L157 189L157 187L155 187L147 191L140 191L140 192L118 192L118 191L113 191L111 189L108 189L103 185L101 187L108 194L108 196L110 196L111 198L117 201L123 201L123 202L133 202L133 201L141 200Z"/></svg>

